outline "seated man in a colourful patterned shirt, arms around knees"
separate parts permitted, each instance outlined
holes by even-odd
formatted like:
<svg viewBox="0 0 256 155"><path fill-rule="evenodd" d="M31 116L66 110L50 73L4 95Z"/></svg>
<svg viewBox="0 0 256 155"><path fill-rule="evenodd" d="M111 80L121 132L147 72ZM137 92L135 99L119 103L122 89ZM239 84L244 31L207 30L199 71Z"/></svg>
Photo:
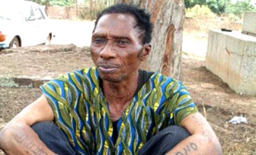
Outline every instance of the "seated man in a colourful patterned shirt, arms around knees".
<svg viewBox="0 0 256 155"><path fill-rule="evenodd" d="M43 95L1 131L0 148L6 154L221 154L186 87L139 69L151 33L144 10L105 9L90 47L96 67L41 86Z"/></svg>

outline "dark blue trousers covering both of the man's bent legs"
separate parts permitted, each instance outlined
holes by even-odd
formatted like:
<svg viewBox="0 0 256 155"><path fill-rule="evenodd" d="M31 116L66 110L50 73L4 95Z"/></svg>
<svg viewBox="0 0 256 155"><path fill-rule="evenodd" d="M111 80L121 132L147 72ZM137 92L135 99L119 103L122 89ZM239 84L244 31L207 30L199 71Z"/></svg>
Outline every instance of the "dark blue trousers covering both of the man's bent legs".
<svg viewBox="0 0 256 155"><path fill-rule="evenodd" d="M59 155L78 154L62 130L54 123L39 122L32 125L32 128L54 153ZM138 151L138 154L166 154L188 136L190 133L185 128L176 125L169 126L147 141Z"/></svg>

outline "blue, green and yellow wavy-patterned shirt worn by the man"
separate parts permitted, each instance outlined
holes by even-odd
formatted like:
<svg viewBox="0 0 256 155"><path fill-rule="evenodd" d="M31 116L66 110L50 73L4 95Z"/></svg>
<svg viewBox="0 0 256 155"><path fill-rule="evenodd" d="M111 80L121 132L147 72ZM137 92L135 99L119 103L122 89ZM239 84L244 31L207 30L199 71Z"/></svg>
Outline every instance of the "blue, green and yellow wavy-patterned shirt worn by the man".
<svg viewBox="0 0 256 155"><path fill-rule="evenodd" d="M130 100L113 126L96 68L85 68L40 87L53 109L55 123L80 154L137 154L163 128L179 125L198 112L186 87L154 73Z"/></svg>

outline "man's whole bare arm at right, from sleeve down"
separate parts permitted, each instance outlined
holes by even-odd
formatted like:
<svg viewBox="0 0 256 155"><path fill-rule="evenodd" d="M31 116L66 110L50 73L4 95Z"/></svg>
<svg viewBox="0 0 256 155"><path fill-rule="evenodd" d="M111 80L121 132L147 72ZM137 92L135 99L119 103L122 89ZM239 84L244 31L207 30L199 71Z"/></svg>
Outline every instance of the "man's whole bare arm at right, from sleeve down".
<svg viewBox="0 0 256 155"><path fill-rule="evenodd" d="M191 133L191 136L181 141L167 154L222 154L221 144L213 129L200 113L185 117L180 125Z"/></svg>

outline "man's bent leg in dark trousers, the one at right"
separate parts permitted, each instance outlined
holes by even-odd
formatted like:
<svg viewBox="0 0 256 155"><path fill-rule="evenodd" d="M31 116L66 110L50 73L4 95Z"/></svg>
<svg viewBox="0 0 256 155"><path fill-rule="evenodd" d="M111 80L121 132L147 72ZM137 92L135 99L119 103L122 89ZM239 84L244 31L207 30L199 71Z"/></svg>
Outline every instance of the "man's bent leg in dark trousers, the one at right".
<svg viewBox="0 0 256 155"><path fill-rule="evenodd" d="M185 128L176 125L169 126L149 139L138 151L138 154L166 154L188 136L190 133Z"/></svg>

